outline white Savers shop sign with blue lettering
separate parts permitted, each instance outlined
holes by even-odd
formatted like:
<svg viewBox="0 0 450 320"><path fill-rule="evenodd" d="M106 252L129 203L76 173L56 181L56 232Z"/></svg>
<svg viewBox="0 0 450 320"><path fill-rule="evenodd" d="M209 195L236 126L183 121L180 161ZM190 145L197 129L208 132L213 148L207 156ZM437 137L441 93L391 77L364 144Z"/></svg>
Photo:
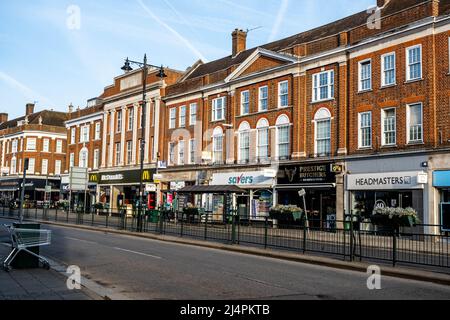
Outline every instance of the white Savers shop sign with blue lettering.
<svg viewBox="0 0 450 320"><path fill-rule="evenodd" d="M254 186L254 185L273 185L273 178L266 177L264 171L235 172L235 173L215 173L211 185L236 185L236 186Z"/></svg>

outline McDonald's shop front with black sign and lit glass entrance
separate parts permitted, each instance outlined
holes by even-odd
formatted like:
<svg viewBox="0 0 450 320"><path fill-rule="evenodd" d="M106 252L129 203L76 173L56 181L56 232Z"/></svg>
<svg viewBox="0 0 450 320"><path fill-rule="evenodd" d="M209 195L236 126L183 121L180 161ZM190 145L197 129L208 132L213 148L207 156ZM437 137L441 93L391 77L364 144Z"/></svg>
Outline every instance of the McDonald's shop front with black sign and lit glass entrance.
<svg viewBox="0 0 450 320"><path fill-rule="evenodd" d="M149 188L149 185L154 184L154 173L154 169L145 169L142 173L145 203L148 203L149 199L156 199L156 190ZM89 175L91 183L97 181L97 201L112 211L119 211L123 207L132 211L136 207L139 200L140 179L140 170L100 172Z"/></svg>

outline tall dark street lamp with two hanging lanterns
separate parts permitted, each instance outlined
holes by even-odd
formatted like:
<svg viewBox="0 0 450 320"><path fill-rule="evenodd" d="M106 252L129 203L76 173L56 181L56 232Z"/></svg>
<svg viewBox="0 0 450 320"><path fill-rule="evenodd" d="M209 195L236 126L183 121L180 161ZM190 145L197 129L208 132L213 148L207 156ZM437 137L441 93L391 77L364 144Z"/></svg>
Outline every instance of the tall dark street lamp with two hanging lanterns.
<svg viewBox="0 0 450 320"><path fill-rule="evenodd" d="M139 206L138 206L138 221L137 221L137 231L142 232L142 204L144 202L143 196L143 175L144 175L144 158L145 158L145 116L147 109L147 76L148 76L148 67L153 67L159 69L158 77L161 81L167 77L164 72L163 66L158 67L147 63L147 55L144 55L144 62L132 61L128 58L125 60L124 66L121 68L125 72L133 71L131 65L137 65L138 67L143 69L143 85L142 85L142 113L141 113L141 153L140 153L140 178L139 178Z"/></svg>

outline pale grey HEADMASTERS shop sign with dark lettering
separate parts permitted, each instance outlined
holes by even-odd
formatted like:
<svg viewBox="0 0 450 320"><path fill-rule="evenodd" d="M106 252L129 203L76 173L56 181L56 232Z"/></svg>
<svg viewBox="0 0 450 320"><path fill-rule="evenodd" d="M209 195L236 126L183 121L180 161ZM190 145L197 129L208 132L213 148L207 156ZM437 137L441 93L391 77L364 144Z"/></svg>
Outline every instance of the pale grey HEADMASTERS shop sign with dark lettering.
<svg viewBox="0 0 450 320"><path fill-rule="evenodd" d="M423 189L424 172L393 172L351 174L347 176L347 190L405 190ZM419 178L420 177L420 178Z"/></svg>

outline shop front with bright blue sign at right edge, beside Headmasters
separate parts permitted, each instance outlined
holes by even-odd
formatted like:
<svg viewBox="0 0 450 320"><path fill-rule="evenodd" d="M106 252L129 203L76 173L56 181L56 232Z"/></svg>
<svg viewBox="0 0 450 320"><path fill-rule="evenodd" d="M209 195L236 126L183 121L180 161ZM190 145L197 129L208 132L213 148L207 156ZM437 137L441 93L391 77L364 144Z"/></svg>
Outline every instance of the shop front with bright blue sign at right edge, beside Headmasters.
<svg viewBox="0 0 450 320"><path fill-rule="evenodd" d="M433 187L438 191L441 232L450 232L450 170L433 172Z"/></svg>

